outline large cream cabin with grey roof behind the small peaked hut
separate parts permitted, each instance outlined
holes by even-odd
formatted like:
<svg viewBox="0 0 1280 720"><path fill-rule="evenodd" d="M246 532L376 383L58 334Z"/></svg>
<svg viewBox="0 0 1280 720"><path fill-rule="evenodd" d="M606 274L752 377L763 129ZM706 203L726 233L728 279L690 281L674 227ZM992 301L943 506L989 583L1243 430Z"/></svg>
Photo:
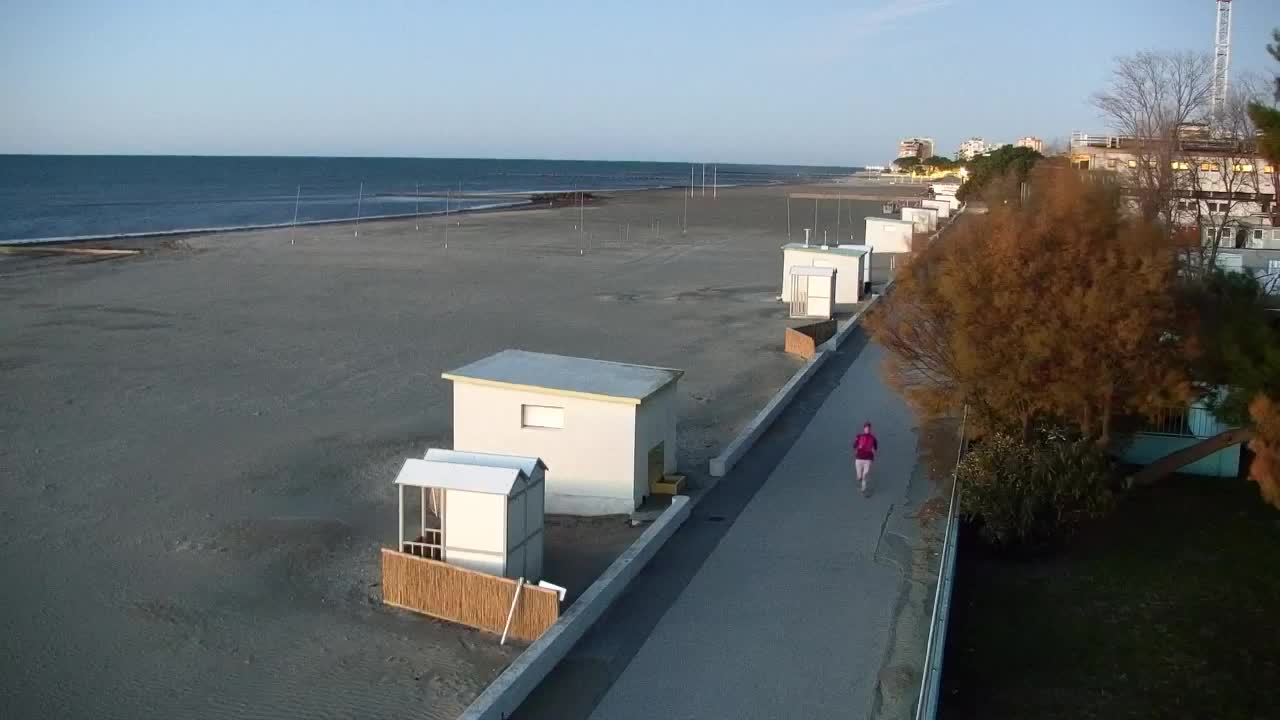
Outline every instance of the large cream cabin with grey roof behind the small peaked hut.
<svg viewBox="0 0 1280 720"><path fill-rule="evenodd" d="M548 512L631 512L676 470L682 374L504 350L444 373L453 447L543 459Z"/></svg>

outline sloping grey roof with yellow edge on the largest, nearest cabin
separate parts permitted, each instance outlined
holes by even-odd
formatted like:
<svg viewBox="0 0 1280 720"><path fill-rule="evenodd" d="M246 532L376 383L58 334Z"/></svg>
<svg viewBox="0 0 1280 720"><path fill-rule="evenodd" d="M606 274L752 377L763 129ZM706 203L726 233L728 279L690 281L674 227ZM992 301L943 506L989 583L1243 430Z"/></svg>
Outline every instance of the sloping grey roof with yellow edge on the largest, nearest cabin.
<svg viewBox="0 0 1280 720"><path fill-rule="evenodd" d="M443 377L453 382L639 405L684 374L671 368L503 350Z"/></svg>

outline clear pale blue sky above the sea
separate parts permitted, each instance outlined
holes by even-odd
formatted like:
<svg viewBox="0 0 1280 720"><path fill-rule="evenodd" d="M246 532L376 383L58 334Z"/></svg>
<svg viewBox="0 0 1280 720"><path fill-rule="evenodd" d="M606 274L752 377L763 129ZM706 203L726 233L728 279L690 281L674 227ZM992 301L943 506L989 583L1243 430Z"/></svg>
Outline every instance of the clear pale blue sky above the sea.
<svg viewBox="0 0 1280 720"><path fill-rule="evenodd" d="M1235 0L1233 77L1280 1ZM0 152L864 165L1105 131L1213 0L0 0Z"/></svg>

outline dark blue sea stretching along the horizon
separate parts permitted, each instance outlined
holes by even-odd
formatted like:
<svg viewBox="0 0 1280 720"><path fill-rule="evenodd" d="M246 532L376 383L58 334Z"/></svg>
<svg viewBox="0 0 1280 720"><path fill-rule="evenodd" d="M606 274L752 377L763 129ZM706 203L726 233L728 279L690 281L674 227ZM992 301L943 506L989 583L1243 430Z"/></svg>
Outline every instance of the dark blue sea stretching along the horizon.
<svg viewBox="0 0 1280 720"><path fill-rule="evenodd" d="M689 169L591 160L0 155L0 242L287 224L296 200L303 223L443 213L445 202L454 210L520 202L503 193L682 187ZM767 184L854 170L726 164L717 179Z"/></svg>

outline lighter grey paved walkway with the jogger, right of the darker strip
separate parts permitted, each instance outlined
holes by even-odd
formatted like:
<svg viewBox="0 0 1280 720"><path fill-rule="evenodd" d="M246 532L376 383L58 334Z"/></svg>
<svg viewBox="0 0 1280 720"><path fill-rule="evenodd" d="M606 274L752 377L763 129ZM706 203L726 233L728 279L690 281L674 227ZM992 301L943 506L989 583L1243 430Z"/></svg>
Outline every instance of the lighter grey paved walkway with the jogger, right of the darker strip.
<svg viewBox="0 0 1280 720"><path fill-rule="evenodd" d="M854 360L594 720L867 715L899 593L876 544L916 456L911 414L884 387L881 360L874 345ZM849 447L863 419L881 443L870 498L856 491Z"/></svg>

